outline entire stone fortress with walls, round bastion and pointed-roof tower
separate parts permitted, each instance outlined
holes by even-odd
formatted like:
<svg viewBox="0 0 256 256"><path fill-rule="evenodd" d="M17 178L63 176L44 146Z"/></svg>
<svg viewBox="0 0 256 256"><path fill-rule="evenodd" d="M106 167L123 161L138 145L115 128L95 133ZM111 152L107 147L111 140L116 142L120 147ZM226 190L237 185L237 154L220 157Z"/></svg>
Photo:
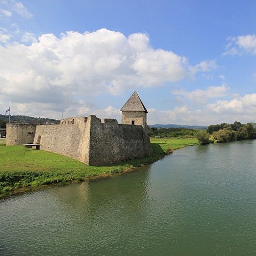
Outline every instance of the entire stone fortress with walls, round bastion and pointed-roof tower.
<svg viewBox="0 0 256 256"><path fill-rule="evenodd" d="M77 159L88 165L106 165L152 153L147 134L148 113L136 92L116 119L70 117L59 124L7 124L6 145L40 144L40 149Z"/></svg>

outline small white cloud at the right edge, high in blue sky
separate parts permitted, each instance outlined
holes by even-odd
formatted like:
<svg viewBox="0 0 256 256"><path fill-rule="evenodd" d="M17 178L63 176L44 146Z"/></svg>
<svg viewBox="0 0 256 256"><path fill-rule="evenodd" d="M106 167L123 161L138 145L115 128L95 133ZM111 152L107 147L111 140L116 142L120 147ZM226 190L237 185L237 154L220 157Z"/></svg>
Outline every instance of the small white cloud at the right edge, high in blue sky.
<svg viewBox="0 0 256 256"><path fill-rule="evenodd" d="M229 43L226 46L225 55L242 55L244 53L256 54L256 35L241 35L237 37L229 37Z"/></svg>

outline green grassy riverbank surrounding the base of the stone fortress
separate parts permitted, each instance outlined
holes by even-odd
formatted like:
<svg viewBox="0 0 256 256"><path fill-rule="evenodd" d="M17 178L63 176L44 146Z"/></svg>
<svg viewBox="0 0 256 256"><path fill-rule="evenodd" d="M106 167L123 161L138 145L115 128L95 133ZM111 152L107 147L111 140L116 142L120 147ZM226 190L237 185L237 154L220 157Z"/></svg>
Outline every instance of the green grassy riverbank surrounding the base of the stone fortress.
<svg viewBox="0 0 256 256"><path fill-rule="evenodd" d="M84 180L94 176L121 173L162 158L169 150L198 144L197 139L151 139L153 154L111 166L88 166L69 157L33 150L24 146L6 146L0 139L0 197L23 187Z"/></svg>

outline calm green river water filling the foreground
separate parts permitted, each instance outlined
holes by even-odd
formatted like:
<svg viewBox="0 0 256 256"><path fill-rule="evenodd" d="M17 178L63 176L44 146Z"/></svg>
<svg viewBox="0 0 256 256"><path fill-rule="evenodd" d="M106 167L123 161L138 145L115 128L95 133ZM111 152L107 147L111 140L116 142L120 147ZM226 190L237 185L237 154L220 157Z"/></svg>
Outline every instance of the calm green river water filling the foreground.
<svg viewBox="0 0 256 256"><path fill-rule="evenodd" d="M256 140L0 201L1 255L256 255Z"/></svg>

